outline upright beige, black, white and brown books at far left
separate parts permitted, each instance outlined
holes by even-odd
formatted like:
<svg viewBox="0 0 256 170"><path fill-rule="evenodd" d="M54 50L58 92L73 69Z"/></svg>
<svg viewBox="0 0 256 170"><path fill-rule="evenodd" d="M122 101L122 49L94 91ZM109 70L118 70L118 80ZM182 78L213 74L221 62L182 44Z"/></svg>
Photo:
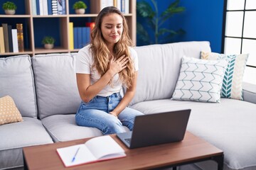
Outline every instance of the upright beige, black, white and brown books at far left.
<svg viewBox="0 0 256 170"><path fill-rule="evenodd" d="M21 44L23 45L23 33ZM7 23L2 23L0 27L0 52L21 52L18 47L18 30Z"/></svg>

